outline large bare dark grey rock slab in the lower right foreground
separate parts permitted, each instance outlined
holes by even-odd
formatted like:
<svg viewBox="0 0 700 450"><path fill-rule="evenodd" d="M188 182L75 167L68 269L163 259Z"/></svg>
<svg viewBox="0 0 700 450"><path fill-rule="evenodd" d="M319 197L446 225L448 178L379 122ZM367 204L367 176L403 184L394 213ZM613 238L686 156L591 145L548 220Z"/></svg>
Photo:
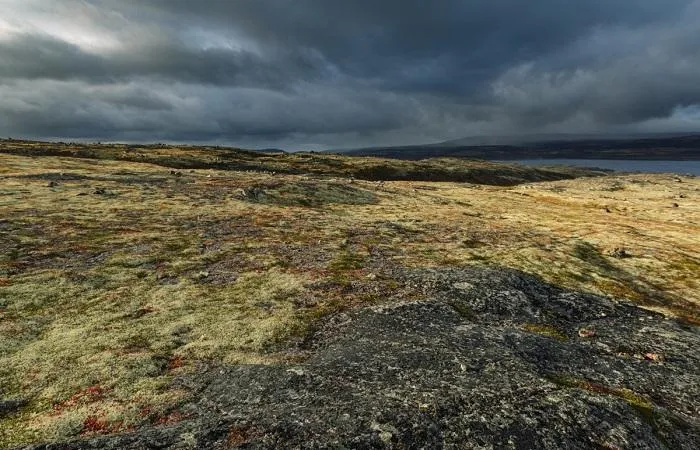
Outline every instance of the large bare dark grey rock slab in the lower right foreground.
<svg viewBox="0 0 700 450"><path fill-rule="evenodd" d="M698 329L503 268L329 319L292 366L183 383L179 424L34 449L700 448Z"/></svg>

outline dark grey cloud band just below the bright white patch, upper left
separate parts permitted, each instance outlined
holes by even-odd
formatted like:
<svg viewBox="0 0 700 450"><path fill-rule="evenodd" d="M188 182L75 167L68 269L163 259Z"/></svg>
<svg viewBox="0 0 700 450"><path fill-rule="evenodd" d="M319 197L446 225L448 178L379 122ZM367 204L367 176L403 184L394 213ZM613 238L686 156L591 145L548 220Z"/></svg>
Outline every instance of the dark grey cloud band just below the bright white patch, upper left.
<svg viewBox="0 0 700 450"><path fill-rule="evenodd" d="M143 43L101 55L46 35L21 35L0 42L0 77L83 80L90 83L157 77L161 80L283 88L290 79L313 79L315 61L296 55L276 61L246 51L192 49L178 43ZM28 57L32 55L32 57Z"/></svg>

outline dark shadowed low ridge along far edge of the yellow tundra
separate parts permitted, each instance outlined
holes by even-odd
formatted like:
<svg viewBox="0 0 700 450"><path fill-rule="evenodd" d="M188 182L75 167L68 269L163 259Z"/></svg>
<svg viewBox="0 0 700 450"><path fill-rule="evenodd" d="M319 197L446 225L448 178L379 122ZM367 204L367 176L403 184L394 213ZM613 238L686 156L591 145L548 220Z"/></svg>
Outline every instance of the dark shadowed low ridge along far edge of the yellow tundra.
<svg viewBox="0 0 700 450"><path fill-rule="evenodd" d="M449 158L398 161L381 158L348 158L328 153L268 154L224 147L88 145L0 140L0 153L148 162L174 169L263 171L354 177L375 181L456 181L501 186L515 185L524 181L560 180L599 174L586 169L526 169L486 161Z"/></svg>

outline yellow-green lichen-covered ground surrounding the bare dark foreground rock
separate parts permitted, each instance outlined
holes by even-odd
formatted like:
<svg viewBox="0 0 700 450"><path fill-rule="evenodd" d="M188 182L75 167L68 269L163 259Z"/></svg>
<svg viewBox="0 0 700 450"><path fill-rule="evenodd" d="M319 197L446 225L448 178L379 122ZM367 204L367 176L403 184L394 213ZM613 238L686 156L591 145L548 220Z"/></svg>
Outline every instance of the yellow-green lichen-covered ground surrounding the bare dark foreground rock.
<svg viewBox="0 0 700 450"><path fill-rule="evenodd" d="M697 178L228 153L0 143L0 400L29 402L0 447L176 421L173 377L298 358L280 343L392 300L395 267L502 264L698 322Z"/></svg>

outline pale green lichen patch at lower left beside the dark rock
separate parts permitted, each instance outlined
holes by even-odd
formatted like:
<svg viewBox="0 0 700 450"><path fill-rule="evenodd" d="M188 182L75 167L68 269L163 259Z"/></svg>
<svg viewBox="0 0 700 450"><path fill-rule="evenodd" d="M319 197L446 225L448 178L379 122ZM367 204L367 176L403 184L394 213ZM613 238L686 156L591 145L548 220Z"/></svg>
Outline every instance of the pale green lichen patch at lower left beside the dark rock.
<svg viewBox="0 0 700 450"><path fill-rule="evenodd" d="M259 362L270 342L304 319L292 302L303 290L301 279L277 270L244 273L226 286L158 286L134 277L116 291L88 293L83 285L49 278L3 289L11 289L9 306L21 317L29 317L28 311L50 317L40 333L0 339L3 392L37 405L30 418L3 421L13 444L26 442L22 436L69 438L75 431L71 417L82 423L97 409L116 422L140 423L141 408L178 401L177 393L165 389L171 358ZM87 409L50 414L53 405L91 386L109 393Z"/></svg>

